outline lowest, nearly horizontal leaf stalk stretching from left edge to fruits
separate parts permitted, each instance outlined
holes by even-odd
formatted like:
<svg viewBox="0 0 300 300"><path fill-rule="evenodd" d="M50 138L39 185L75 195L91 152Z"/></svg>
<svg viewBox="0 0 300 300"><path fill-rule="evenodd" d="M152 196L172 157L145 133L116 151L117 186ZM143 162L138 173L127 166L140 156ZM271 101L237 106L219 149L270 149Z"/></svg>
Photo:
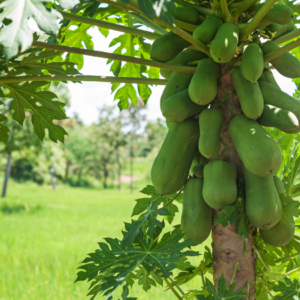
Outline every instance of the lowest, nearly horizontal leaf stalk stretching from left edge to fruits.
<svg viewBox="0 0 300 300"><path fill-rule="evenodd" d="M168 80L165 79L94 76L94 75L37 75L37 76L0 77L0 84L11 83L11 82L23 82L23 81L97 81L97 82L154 84L154 85L166 85L168 82Z"/></svg>

